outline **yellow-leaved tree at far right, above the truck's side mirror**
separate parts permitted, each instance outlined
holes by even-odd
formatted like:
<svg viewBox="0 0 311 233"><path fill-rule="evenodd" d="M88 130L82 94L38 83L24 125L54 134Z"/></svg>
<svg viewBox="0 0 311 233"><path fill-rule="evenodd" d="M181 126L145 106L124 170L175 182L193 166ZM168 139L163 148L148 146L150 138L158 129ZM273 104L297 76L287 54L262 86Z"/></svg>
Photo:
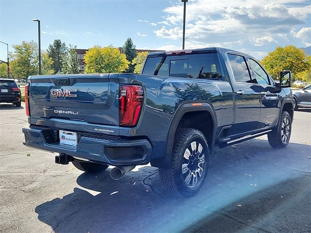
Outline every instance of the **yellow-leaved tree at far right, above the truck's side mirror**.
<svg viewBox="0 0 311 233"><path fill-rule="evenodd" d="M277 47L261 60L261 64L274 79L277 79L280 71L291 70L295 80L298 78L298 73L310 67L304 51L294 45Z"/></svg>

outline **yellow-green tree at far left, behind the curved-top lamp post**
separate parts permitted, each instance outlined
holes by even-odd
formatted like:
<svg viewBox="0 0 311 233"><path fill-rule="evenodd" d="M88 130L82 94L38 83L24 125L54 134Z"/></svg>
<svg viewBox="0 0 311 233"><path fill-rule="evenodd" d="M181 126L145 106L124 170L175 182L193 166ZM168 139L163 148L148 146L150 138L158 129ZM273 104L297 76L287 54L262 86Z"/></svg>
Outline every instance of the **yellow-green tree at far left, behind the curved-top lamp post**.
<svg viewBox="0 0 311 233"><path fill-rule="evenodd" d="M33 40L23 41L20 45L13 45L14 51L10 53L12 74L17 79L28 78L39 74L38 46ZM45 51L41 52L42 74L52 74L52 60Z"/></svg>

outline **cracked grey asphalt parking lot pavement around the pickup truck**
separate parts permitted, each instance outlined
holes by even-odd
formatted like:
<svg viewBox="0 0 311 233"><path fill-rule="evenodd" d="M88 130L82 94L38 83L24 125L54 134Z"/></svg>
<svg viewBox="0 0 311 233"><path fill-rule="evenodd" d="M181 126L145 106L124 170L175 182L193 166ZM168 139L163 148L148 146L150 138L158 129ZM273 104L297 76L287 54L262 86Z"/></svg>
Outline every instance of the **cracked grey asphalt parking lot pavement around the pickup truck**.
<svg viewBox="0 0 311 233"><path fill-rule="evenodd" d="M266 136L209 161L191 198L171 196L157 168L138 166L120 181L89 175L56 154L23 146L23 107L0 104L0 232L308 233L311 232L311 111L294 113L291 142Z"/></svg>

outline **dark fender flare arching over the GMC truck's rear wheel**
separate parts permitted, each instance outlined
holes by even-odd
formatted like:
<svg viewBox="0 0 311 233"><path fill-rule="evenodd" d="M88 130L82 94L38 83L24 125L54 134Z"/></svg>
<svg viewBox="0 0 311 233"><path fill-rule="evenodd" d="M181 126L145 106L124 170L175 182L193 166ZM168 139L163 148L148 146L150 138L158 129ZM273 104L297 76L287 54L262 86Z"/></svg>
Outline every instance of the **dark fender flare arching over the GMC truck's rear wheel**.
<svg viewBox="0 0 311 233"><path fill-rule="evenodd" d="M202 105L199 106L193 106L193 103L200 103ZM178 107L176 110L172 123L170 125L169 131L168 131L168 136L167 136L167 144L166 144L166 150L165 150L165 155L163 158L156 159L151 161L152 166L156 167L168 167L171 161L171 156L173 152L173 143L174 143L174 135L177 130L177 126L181 120L181 118L189 112L208 112L209 115L211 116L211 120L213 122L213 132L212 132L212 138L210 138L210 153L212 153L215 145L215 140L216 140L216 131L217 131L217 116L215 109L210 101L205 100L203 101L198 101L198 102L189 102L189 103L184 103Z"/></svg>

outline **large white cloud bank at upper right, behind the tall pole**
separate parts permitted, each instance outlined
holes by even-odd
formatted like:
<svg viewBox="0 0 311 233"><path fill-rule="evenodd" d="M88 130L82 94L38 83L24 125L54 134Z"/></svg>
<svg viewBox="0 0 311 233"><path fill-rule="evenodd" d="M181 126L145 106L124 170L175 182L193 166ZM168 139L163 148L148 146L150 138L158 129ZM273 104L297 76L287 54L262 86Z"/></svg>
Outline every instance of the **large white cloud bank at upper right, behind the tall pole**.
<svg viewBox="0 0 311 233"><path fill-rule="evenodd" d="M306 3L307 0L209 0L208 3L191 0L187 3L186 44L192 48L211 45L231 49L273 46L274 43L285 46L282 43L288 44L291 30L301 28L308 21L311 5ZM159 24L156 26L165 26L158 27L154 33L159 38L181 41L183 4L172 4L163 10L163 21L156 23ZM293 5L295 7L291 7ZM306 34L298 33L299 37ZM309 44L310 39L304 38Z"/></svg>

